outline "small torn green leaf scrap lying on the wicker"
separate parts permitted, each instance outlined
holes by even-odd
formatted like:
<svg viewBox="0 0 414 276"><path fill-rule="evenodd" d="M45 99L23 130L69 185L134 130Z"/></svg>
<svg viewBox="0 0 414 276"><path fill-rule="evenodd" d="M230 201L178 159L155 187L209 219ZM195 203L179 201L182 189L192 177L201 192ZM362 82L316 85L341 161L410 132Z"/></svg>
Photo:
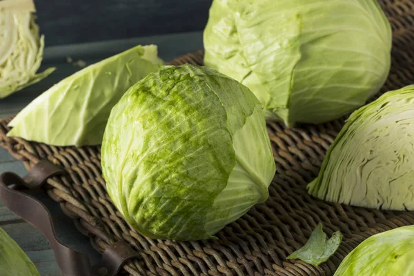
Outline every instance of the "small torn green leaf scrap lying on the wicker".
<svg viewBox="0 0 414 276"><path fill-rule="evenodd" d="M308 264L319 266L335 253L341 242L342 234L339 231L333 233L331 239L326 240L322 224L319 223L304 247L290 254L288 259L302 259Z"/></svg>

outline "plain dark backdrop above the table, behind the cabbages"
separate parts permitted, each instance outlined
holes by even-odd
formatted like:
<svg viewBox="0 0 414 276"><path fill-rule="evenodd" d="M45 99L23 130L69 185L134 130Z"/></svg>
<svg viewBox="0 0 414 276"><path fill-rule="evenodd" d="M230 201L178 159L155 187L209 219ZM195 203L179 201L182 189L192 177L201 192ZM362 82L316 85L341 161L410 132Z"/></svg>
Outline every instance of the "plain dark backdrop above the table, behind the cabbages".
<svg viewBox="0 0 414 276"><path fill-rule="evenodd" d="M204 30L212 0L34 0L46 46Z"/></svg>

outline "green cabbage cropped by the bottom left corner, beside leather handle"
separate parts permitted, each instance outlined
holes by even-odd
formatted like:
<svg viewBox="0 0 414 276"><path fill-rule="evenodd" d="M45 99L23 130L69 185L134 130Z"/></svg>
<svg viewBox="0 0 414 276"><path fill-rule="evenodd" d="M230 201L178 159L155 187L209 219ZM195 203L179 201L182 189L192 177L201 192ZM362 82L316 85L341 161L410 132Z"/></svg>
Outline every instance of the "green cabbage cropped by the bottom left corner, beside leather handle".
<svg viewBox="0 0 414 276"><path fill-rule="evenodd" d="M29 257L0 228L0 275L3 276L40 276Z"/></svg>

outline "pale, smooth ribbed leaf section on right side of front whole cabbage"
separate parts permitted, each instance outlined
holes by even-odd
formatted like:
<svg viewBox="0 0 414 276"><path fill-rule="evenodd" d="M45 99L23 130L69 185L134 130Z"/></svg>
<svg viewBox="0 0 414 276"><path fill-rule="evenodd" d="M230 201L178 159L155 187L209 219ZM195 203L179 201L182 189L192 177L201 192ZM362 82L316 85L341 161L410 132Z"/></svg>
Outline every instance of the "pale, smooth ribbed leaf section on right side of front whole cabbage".
<svg viewBox="0 0 414 276"><path fill-rule="evenodd" d="M263 108L257 105L253 114L247 117L246 124L233 136L236 164L226 188L208 211L208 235L214 235L224 225L242 217L251 206L268 199L268 186L275 175L275 161L265 130Z"/></svg>

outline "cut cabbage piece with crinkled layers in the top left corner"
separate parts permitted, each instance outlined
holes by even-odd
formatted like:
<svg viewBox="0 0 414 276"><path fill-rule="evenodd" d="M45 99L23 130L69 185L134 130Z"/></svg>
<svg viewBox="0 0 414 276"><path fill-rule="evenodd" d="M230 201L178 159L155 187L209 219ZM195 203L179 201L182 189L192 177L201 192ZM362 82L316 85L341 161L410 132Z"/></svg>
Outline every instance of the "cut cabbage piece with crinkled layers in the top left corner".
<svg viewBox="0 0 414 276"><path fill-rule="evenodd" d="M0 99L44 79L55 68L36 74L44 37L34 23L32 0L0 1Z"/></svg>

